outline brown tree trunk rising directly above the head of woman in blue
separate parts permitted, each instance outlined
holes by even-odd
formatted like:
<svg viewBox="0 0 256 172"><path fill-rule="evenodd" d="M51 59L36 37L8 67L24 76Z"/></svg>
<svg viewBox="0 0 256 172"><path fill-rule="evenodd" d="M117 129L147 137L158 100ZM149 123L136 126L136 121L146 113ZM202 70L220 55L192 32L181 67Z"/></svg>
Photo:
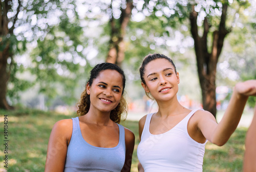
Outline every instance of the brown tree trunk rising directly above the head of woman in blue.
<svg viewBox="0 0 256 172"><path fill-rule="evenodd" d="M123 38L126 34L126 28L132 15L133 7L133 1L126 0L126 8L121 9L119 23L116 23L116 20L113 18L113 16L110 19L111 40L106 62L121 66L122 61L124 60L125 42Z"/></svg>

